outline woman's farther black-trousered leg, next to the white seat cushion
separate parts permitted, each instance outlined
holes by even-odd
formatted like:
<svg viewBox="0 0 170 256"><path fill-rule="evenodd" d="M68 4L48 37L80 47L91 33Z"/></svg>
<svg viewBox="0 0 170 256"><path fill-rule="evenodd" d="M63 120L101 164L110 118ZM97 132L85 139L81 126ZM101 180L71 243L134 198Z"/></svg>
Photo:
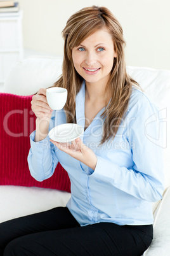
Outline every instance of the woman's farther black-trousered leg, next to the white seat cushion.
<svg viewBox="0 0 170 256"><path fill-rule="evenodd" d="M8 220L0 224L0 255L10 241L37 232L79 227L66 207L58 207L33 215Z"/></svg>

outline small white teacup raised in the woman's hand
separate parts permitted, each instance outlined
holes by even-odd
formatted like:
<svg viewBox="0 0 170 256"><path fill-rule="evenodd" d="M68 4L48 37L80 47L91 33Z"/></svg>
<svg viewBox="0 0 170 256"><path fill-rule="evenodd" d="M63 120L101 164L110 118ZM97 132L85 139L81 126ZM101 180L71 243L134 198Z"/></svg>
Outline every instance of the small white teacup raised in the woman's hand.
<svg viewBox="0 0 170 256"><path fill-rule="evenodd" d="M62 110L67 101L67 89L51 87L46 89L47 102L52 110Z"/></svg>

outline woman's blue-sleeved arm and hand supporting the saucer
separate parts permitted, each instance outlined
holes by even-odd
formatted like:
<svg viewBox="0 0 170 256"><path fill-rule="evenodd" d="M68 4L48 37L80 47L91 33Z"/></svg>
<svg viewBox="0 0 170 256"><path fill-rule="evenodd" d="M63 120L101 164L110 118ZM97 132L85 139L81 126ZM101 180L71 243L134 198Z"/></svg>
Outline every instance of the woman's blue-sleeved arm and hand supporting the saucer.
<svg viewBox="0 0 170 256"><path fill-rule="evenodd" d="M96 176L98 180L112 184L138 199L158 201L164 190L163 148L159 145L161 138L157 141L162 134L159 114L156 108L147 104L130 123L126 140L129 145L133 145L131 157L134 164L129 169L122 166L121 162L119 165L115 164L112 160L113 150L105 149L108 150L108 157L103 157L102 154L95 155L80 139L71 146L54 141L53 143L81 161L82 169L87 175Z"/></svg>

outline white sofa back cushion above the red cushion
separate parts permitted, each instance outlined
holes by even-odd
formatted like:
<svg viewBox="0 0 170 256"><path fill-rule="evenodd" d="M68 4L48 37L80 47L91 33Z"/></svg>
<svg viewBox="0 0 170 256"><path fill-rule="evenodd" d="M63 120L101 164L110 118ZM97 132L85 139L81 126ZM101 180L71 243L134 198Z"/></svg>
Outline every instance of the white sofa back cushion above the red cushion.
<svg viewBox="0 0 170 256"><path fill-rule="evenodd" d="M62 74L62 57L29 57L11 69L3 92L28 96L40 88L48 88Z"/></svg>

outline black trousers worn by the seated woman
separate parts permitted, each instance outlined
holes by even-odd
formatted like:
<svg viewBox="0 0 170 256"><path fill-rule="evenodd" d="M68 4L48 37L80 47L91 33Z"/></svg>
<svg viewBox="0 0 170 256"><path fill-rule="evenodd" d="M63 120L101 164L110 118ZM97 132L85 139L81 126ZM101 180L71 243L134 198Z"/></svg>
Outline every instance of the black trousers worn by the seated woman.
<svg viewBox="0 0 170 256"><path fill-rule="evenodd" d="M58 207L1 223L0 255L140 256L152 238L152 225L81 227L66 207Z"/></svg>

